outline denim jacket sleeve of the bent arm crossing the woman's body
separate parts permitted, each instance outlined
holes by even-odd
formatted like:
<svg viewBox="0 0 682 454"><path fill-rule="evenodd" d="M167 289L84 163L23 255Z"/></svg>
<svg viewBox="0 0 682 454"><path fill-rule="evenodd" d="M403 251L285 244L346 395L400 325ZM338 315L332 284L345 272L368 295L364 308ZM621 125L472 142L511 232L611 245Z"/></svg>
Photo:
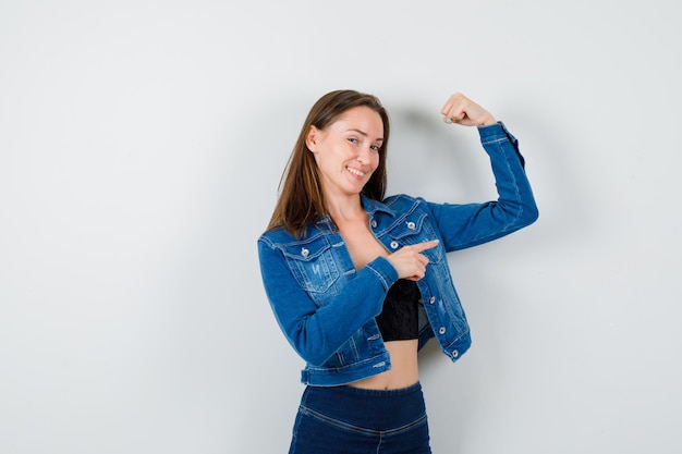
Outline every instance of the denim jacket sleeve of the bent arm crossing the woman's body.
<svg viewBox="0 0 682 454"><path fill-rule="evenodd" d="M258 241L260 273L275 317L296 353L320 366L364 323L381 311L398 271L378 257L357 271L328 304L318 307L293 277L283 253L265 236Z"/></svg>

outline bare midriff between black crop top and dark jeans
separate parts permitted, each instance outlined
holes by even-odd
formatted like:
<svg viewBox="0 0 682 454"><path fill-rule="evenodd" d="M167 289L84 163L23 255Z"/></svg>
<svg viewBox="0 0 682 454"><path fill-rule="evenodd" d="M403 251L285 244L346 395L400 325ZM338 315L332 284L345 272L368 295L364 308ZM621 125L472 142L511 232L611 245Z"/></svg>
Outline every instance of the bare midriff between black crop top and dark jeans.
<svg viewBox="0 0 682 454"><path fill-rule="evenodd" d="M413 385L419 381L417 346L416 339L386 342L391 369L349 385L366 390L398 390Z"/></svg>

